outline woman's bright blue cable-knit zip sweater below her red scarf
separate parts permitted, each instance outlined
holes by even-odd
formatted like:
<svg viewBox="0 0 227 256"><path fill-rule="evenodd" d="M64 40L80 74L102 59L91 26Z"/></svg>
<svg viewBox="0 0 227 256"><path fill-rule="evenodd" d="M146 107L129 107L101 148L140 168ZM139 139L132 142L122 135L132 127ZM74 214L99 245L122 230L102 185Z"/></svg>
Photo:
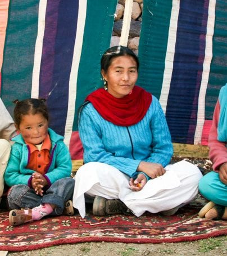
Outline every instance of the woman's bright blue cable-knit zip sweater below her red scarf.
<svg viewBox="0 0 227 256"><path fill-rule="evenodd" d="M133 178L140 161L165 167L173 153L165 115L155 96L144 118L129 127L108 122L89 103L80 113L79 134L85 163L106 163Z"/></svg>

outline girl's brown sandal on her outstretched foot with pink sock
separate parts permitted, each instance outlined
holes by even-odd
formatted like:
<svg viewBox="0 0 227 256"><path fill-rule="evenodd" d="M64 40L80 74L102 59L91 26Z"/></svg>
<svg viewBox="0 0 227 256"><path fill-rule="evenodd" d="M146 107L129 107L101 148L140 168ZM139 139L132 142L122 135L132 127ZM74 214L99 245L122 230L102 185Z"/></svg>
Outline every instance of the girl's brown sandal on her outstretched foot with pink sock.
<svg viewBox="0 0 227 256"><path fill-rule="evenodd" d="M17 226L20 224L24 224L26 222L33 221L31 209L27 209L27 210L28 210L28 214L26 214L24 210L11 210L8 215L10 224L12 226Z"/></svg>

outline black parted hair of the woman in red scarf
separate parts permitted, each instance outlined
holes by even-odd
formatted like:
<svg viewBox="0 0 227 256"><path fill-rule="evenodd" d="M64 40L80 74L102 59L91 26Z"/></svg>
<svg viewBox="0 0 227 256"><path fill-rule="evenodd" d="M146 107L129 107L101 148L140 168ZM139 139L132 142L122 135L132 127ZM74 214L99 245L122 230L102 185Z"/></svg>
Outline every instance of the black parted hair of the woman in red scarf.
<svg viewBox="0 0 227 256"><path fill-rule="evenodd" d="M137 55L133 51L131 51L128 47L125 46L113 46L108 48L105 53L103 53L101 58L101 70L105 73L107 72L111 62L114 58L120 56L131 56L137 63L137 70L139 69L139 59Z"/></svg>

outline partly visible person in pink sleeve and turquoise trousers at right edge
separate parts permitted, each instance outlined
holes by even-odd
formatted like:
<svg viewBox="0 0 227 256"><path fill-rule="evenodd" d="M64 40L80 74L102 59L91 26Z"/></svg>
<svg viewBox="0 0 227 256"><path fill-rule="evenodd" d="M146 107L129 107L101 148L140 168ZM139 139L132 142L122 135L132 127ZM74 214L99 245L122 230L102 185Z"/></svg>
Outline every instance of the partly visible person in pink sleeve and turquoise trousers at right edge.
<svg viewBox="0 0 227 256"><path fill-rule="evenodd" d="M208 138L209 158L214 171L199 181L199 192L210 202L199 217L227 219L227 84L219 93Z"/></svg>

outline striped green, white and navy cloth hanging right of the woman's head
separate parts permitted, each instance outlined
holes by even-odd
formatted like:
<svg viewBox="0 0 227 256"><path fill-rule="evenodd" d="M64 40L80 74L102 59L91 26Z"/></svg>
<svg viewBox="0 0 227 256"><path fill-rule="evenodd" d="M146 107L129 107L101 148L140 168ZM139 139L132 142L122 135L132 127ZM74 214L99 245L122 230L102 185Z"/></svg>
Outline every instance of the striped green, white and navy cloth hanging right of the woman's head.
<svg viewBox="0 0 227 256"><path fill-rule="evenodd" d="M207 145L227 80L224 0L143 1L138 84L159 98L172 141Z"/></svg>

